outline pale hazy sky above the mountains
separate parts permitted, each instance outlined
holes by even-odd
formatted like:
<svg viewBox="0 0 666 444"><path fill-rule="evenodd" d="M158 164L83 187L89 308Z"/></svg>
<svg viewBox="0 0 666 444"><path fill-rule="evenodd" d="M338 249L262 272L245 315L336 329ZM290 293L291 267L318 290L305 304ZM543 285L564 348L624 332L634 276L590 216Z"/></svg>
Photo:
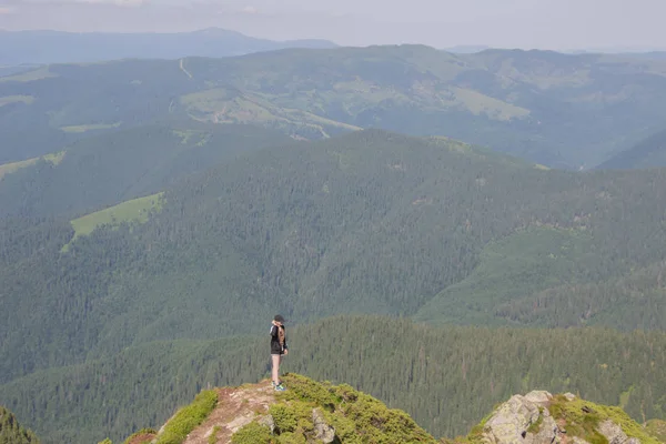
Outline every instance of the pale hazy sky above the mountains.
<svg viewBox="0 0 666 444"><path fill-rule="evenodd" d="M233 29L438 48L666 49L666 0L0 0L0 29Z"/></svg>

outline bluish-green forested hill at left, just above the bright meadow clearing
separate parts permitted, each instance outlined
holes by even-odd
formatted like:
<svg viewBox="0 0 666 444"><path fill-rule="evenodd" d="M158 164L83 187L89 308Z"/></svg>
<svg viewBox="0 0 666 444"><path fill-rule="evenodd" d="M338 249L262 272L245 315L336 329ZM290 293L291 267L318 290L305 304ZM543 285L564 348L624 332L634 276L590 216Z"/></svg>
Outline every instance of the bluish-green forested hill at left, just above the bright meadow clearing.
<svg viewBox="0 0 666 444"><path fill-rule="evenodd" d="M97 211L163 191L183 176L290 140L250 125L188 120L90 137L43 159L0 165L0 218Z"/></svg>

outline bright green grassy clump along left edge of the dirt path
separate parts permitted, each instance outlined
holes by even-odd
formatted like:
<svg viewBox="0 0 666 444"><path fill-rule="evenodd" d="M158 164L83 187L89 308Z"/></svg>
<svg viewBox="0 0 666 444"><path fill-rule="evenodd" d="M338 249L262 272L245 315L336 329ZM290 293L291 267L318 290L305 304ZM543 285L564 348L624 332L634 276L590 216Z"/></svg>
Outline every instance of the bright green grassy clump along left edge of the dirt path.
<svg viewBox="0 0 666 444"><path fill-rule="evenodd" d="M196 395L192 404L181 408L164 426L164 432L158 436L157 444L180 444L188 434L200 425L215 408L218 393L205 390Z"/></svg>

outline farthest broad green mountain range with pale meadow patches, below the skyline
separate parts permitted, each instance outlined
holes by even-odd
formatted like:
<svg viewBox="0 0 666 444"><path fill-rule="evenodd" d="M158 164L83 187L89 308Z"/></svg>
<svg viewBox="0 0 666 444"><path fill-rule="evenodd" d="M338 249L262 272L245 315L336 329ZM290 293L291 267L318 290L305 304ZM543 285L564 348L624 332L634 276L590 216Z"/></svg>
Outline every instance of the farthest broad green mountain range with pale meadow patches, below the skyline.
<svg viewBox="0 0 666 444"><path fill-rule="evenodd" d="M0 161L57 151L90 131L189 115L307 139L357 127L447 135L591 168L662 128L665 99L663 60L549 51L400 46L53 64L0 81Z"/></svg>

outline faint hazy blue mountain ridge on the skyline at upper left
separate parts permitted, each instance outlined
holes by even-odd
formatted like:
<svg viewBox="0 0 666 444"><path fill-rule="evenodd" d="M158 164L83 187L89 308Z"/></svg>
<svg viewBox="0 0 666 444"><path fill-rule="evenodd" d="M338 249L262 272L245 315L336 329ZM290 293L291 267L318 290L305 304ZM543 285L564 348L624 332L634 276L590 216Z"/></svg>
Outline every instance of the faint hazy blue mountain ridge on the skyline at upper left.
<svg viewBox="0 0 666 444"><path fill-rule="evenodd" d="M174 33L0 32L0 65L87 63L117 59L230 57L285 48L335 48L327 40L273 41L221 28Z"/></svg>

